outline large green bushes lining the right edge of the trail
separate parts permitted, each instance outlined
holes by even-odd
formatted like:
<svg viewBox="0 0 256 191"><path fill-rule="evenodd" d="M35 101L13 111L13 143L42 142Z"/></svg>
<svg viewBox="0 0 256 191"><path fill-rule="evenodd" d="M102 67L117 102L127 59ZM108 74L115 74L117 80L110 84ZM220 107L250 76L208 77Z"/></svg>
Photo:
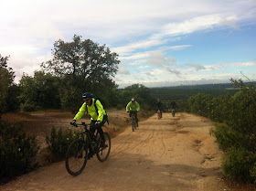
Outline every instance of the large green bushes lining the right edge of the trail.
<svg viewBox="0 0 256 191"><path fill-rule="evenodd" d="M189 99L190 111L220 122L212 133L227 151L223 171L231 179L256 181L256 90L253 84L232 80L240 91L210 99L197 94Z"/></svg>

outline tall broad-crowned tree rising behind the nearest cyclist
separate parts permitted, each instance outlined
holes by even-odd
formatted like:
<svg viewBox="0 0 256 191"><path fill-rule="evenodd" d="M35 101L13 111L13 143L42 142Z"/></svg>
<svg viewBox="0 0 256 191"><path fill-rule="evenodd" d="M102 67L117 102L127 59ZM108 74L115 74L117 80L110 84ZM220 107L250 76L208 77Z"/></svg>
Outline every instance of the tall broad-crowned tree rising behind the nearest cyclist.
<svg viewBox="0 0 256 191"><path fill-rule="evenodd" d="M61 105L76 111L81 104L81 94L91 91L96 96L108 97L117 86L112 81L118 69L118 55L105 45L91 39L82 40L74 35L72 42L59 39L54 43L53 58L41 64L62 81Z"/></svg>

